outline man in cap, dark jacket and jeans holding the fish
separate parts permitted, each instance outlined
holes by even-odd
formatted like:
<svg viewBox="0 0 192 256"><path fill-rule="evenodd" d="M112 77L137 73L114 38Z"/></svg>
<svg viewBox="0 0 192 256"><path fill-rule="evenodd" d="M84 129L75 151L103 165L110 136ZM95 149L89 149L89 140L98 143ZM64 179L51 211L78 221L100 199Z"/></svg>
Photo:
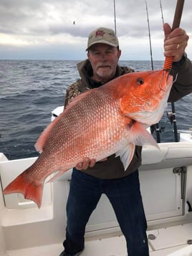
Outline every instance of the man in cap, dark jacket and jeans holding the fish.
<svg viewBox="0 0 192 256"><path fill-rule="evenodd" d="M178 74L169 97L169 100L175 101L192 91L192 67L185 54L188 35L183 29L171 32L168 24L164 25L164 31L165 56L173 56L172 74L174 77ZM133 72L118 65L120 54L119 42L112 29L95 29L88 39L88 59L77 65L81 79L68 88L65 106L80 93ZM63 243L64 252L60 256L77 256L82 253L85 247L85 227L102 193L106 194L115 211L127 242L128 255L149 255L147 223L138 179L140 163L141 147L136 146L133 160L126 171L120 158L115 158L115 155L97 163L95 159L85 158L77 164L72 172L67 201L66 239Z"/></svg>

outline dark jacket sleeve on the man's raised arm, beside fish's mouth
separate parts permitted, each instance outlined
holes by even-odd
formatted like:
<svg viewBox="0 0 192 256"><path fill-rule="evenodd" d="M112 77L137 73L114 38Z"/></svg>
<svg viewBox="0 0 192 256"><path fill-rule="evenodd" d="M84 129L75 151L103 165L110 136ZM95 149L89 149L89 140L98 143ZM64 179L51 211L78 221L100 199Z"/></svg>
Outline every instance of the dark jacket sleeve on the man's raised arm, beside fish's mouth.
<svg viewBox="0 0 192 256"><path fill-rule="evenodd" d="M173 75L173 81L175 82L173 82L168 102L175 102L192 92L191 60L186 58L181 65L173 62L171 75Z"/></svg>

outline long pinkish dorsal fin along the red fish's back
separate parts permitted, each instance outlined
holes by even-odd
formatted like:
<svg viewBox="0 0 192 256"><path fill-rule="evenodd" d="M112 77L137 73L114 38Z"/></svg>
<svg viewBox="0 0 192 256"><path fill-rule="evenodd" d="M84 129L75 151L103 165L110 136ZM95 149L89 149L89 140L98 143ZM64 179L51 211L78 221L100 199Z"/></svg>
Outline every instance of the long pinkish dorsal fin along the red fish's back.
<svg viewBox="0 0 192 256"><path fill-rule="evenodd" d="M35 143L34 147L36 148L36 150L39 153L42 153L43 148L44 148L44 144L47 141L47 138L49 137L49 134L51 133L52 129L54 128L55 125L57 125L57 123L59 123L59 120L61 120L63 118L64 115L66 115L67 111L70 108L73 108L74 105L76 105L77 103L79 103L83 98L85 98L88 94L90 94L90 92L97 90L97 88L92 89L92 90L87 90L85 93L82 93L80 95L78 95L77 97L75 97L68 105L67 107L64 109L63 113L61 113L57 118L55 118L52 123L50 123L47 128L44 129L44 131L42 132L42 134L39 136L37 142Z"/></svg>

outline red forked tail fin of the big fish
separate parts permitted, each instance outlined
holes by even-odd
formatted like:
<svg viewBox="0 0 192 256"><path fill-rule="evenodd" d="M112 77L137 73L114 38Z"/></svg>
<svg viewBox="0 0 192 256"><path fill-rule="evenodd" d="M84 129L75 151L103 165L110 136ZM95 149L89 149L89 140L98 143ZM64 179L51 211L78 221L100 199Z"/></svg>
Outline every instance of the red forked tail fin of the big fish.
<svg viewBox="0 0 192 256"><path fill-rule="evenodd" d="M25 199L34 201L38 207L42 204L43 182L29 181L25 171L4 189L4 194L21 193Z"/></svg>

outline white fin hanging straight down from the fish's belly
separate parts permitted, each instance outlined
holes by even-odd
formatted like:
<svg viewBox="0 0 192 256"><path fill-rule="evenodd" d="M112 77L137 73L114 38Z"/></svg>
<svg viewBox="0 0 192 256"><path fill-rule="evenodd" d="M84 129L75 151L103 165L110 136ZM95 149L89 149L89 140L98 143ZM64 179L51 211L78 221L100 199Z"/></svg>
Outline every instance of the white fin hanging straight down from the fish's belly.
<svg viewBox="0 0 192 256"><path fill-rule="evenodd" d="M135 152L135 145L133 143L128 143L127 146L121 148L115 153L115 157L120 156L120 160L123 163L124 169L128 169L130 162L133 158Z"/></svg>

